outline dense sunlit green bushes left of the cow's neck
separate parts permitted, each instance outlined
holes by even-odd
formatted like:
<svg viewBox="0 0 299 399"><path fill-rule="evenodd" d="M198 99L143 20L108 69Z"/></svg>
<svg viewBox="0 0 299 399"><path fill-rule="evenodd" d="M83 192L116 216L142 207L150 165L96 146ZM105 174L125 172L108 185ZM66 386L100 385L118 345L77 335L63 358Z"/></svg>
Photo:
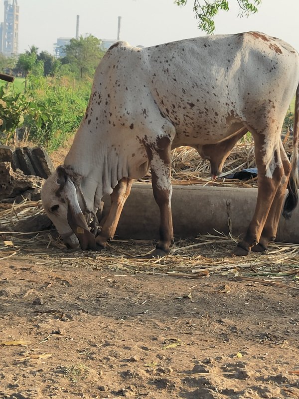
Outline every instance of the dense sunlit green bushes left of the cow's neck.
<svg viewBox="0 0 299 399"><path fill-rule="evenodd" d="M44 78L39 69L28 74L23 92L13 85L0 87L0 141L30 140L51 152L78 128L91 82Z"/></svg>

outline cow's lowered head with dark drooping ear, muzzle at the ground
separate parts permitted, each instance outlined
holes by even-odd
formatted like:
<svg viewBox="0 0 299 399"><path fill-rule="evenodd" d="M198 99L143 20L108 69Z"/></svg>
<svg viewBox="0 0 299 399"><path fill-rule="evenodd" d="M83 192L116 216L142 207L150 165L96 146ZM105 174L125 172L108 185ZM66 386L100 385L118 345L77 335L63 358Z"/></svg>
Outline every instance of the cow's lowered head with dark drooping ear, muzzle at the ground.
<svg viewBox="0 0 299 399"><path fill-rule="evenodd" d="M76 187L63 166L59 166L46 180L41 200L46 214L68 248L76 248L80 244L83 250L96 249L95 237L79 205Z"/></svg>

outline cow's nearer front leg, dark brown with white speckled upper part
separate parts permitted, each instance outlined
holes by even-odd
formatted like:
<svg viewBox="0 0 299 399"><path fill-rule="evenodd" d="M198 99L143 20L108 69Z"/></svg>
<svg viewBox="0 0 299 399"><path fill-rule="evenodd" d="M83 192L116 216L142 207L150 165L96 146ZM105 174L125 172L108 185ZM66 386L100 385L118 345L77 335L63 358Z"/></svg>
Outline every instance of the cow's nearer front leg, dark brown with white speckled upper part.
<svg viewBox="0 0 299 399"><path fill-rule="evenodd" d="M159 242L155 250L149 254L149 257L166 255L169 253L170 245L173 243L170 150L170 141L166 139L158 142L157 148L147 147L153 196L160 209Z"/></svg>

